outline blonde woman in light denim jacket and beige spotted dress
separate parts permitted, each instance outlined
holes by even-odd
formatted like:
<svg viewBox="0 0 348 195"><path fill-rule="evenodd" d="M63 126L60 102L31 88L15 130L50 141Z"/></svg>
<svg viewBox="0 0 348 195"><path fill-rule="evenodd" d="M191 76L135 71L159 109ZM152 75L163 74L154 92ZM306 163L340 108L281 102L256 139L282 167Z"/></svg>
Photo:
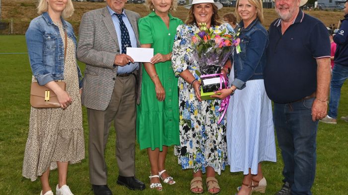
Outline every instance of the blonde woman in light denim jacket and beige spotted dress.
<svg viewBox="0 0 348 195"><path fill-rule="evenodd" d="M31 107L22 174L31 181L40 177L41 195L53 195L49 172L58 167L56 194L72 195L66 185L68 164L85 158L76 37L72 25L63 19L73 14L74 7L71 0L40 0L37 8L41 15L30 22L25 33L32 81L52 90L61 108ZM66 82L66 91L57 80Z"/></svg>

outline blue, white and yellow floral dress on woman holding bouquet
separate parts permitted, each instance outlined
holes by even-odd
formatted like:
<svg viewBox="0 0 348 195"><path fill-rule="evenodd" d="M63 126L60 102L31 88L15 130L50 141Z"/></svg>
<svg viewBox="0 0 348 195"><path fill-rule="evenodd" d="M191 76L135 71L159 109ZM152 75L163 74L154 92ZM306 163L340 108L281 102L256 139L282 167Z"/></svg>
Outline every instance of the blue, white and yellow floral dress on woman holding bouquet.
<svg viewBox="0 0 348 195"><path fill-rule="evenodd" d="M228 29L226 24L212 26L213 30ZM179 25L176 29L172 53L172 66L175 76L189 70L200 80L195 70L199 71L196 61L191 62L194 54L191 36L198 32L196 25ZM227 30L228 31L228 30ZM179 129L180 145L175 146L174 154L182 169L193 169L205 173L206 167L212 167L221 174L227 164L226 119L217 124L221 113L218 111L221 100L203 100L194 95L192 86L181 77L179 88Z"/></svg>

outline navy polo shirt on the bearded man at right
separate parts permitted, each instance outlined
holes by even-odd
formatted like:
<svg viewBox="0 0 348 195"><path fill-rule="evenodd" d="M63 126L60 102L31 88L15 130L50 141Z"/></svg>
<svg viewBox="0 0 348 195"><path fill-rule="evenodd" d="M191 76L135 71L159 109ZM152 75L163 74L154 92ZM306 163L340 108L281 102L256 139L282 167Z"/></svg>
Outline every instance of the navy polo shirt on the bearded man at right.
<svg viewBox="0 0 348 195"><path fill-rule="evenodd" d="M266 53L263 79L271 100L289 103L310 96L317 89L316 59L330 58L328 30L300 9L284 34L280 18L270 24Z"/></svg>

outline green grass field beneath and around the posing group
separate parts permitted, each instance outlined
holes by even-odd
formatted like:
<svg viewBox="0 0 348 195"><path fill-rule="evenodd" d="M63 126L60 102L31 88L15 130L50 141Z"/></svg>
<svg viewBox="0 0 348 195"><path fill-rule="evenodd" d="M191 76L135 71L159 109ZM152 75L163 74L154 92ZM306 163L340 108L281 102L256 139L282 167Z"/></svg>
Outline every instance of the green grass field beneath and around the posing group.
<svg viewBox="0 0 348 195"><path fill-rule="evenodd" d="M26 52L23 35L0 35L0 53ZM85 66L79 63L81 69ZM39 195L40 182L30 182L22 177L22 161L28 132L29 89L31 70L27 54L0 54L0 195ZM345 83L339 108L339 117L348 115L348 82ZM87 160L87 115L84 108L86 159L70 165L68 185L75 195L92 195L90 191ZM167 170L177 182L173 186L164 184L163 192L149 189L150 165L145 150L136 148L136 176L147 185L142 192L134 192L118 186L117 163L114 157L115 132L110 131L106 149L108 185L114 195L191 195L189 182L191 170L182 171L173 155L168 152ZM312 192L314 195L346 195L348 175L348 123L339 119L337 125L319 123L317 174ZM282 185L282 160L277 148L277 163L263 163L267 179L266 195L273 195ZM57 185L57 170L51 172L50 184ZM241 184L242 173L230 173L229 167L218 176L221 195L234 194ZM208 193L205 193L208 194Z"/></svg>

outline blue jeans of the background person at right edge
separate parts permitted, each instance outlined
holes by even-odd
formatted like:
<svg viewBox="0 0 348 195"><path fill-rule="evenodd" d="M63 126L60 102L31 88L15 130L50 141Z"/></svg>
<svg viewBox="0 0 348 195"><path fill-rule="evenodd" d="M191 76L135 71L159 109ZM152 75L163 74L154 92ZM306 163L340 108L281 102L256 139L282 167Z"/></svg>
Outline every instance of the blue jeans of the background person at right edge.
<svg viewBox="0 0 348 195"><path fill-rule="evenodd" d="M341 88L348 78L348 66L335 64L332 70L332 79L330 83L330 102L328 115L337 119L339 101L341 98Z"/></svg>

